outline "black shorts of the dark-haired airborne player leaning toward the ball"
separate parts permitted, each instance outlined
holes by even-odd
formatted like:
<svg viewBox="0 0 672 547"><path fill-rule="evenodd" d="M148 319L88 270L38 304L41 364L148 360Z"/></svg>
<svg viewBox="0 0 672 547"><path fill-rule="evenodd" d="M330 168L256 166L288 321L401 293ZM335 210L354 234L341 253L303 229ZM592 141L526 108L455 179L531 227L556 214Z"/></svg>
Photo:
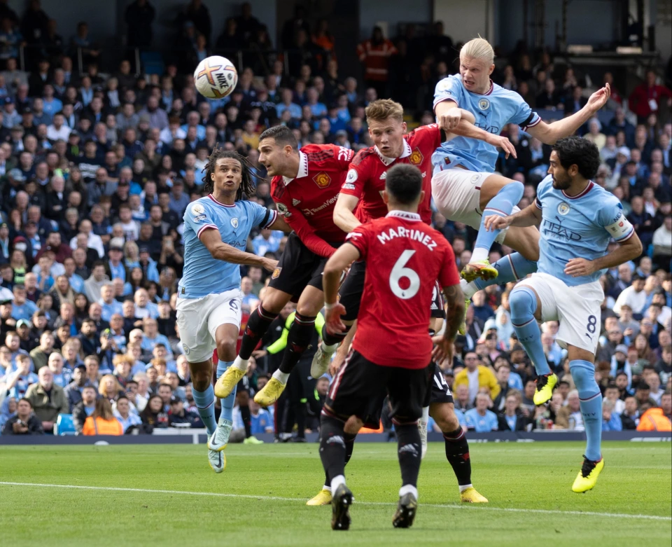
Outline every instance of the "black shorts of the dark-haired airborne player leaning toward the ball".
<svg viewBox="0 0 672 547"><path fill-rule="evenodd" d="M337 247L338 244L332 244ZM285 250L271 275L269 286L298 298L307 286L322 290L322 270L328 258L309 250L295 232L287 238Z"/></svg>

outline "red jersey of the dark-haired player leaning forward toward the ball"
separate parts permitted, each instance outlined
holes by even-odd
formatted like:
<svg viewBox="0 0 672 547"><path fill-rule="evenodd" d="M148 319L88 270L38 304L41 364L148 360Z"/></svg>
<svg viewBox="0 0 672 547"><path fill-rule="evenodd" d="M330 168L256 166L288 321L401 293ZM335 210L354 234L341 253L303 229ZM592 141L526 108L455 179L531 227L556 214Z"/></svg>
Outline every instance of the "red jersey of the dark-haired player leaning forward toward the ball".
<svg viewBox="0 0 672 547"><path fill-rule="evenodd" d="M334 224L334 207L353 151L335 144L308 144L299 156L296 178L274 176L271 197L308 249L331 256L336 249L329 243L345 239L344 231Z"/></svg>

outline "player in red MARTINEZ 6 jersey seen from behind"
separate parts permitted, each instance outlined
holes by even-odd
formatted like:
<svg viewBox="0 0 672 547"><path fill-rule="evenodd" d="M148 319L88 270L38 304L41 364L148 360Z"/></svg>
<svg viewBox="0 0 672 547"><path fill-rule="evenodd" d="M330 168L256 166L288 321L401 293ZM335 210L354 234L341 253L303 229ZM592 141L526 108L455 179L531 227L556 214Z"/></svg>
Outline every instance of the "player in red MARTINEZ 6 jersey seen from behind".
<svg viewBox="0 0 672 547"><path fill-rule="evenodd" d="M427 326L428 303L435 279L447 301L458 310L462 291L455 257L449 243L421 221L417 213L425 195L421 172L412 165L395 165L386 177L383 199L389 212L349 233L346 244L324 268L328 330L342 331L337 303L339 277L355 260L366 269L358 332L339 368L322 410L320 456L333 492L332 529L348 529L352 492L345 484L347 445L361 427L378 427L380 409L389 396L398 440L402 487L393 517L395 527L407 528L415 518L416 488L421 461L418 420L433 366L432 338ZM459 321L449 322L443 336L435 337L434 356L452 357Z"/></svg>

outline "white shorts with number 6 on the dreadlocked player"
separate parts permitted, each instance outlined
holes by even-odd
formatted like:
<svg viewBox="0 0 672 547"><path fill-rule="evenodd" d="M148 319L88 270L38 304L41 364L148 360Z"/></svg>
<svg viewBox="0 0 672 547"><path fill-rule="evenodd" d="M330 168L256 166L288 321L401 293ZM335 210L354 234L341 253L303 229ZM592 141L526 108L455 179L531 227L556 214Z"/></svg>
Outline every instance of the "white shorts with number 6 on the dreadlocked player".
<svg viewBox="0 0 672 547"><path fill-rule="evenodd" d="M177 299L177 326L187 361L201 363L212 358L218 326L232 324L240 328L242 296L235 289L202 298Z"/></svg>

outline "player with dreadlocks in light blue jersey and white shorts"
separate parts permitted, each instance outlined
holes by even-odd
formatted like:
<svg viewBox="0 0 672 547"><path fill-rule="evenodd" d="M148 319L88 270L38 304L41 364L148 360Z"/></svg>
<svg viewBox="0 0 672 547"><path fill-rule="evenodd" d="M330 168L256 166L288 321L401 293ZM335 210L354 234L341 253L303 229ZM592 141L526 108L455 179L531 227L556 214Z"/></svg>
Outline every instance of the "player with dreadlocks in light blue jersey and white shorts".
<svg viewBox="0 0 672 547"><path fill-rule="evenodd" d="M235 391L222 400L215 422L212 355L217 349L217 376L236 356L240 329L240 264L272 272L278 261L246 253L250 231L291 228L276 211L244 197L254 193L252 173L241 155L215 146L204 177L208 191L184 213L184 272L178 287L177 325L193 380L198 413L208 431L208 459L216 473L224 471L223 450L232 429Z"/></svg>

